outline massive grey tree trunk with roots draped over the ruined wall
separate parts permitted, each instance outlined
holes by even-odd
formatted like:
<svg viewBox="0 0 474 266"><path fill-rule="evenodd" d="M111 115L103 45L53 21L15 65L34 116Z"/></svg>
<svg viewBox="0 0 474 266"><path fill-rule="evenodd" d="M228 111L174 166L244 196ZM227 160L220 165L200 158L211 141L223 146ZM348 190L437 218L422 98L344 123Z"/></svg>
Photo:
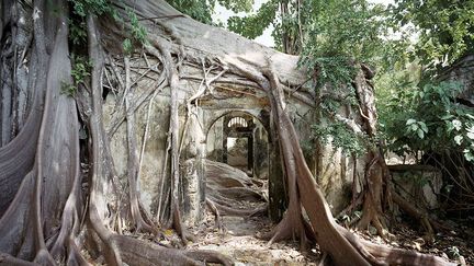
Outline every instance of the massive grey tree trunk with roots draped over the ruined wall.
<svg viewBox="0 0 474 266"><path fill-rule="evenodd" d="M136 97L131 96L134 93L129 80L131 66L128 57L122 54L121 46L123 38L129 37L126 34L129 25L121 28L121 23L106 15L94 18L89 14L87 48L93 68L90 78L79 85L75 101L61 93L61 86L71 83L66 2L36 0L33 8L26 1L20 3L1 3L1 11L11 11L13 15L2 16L0 32L0 73L2 79L4 77L11 81L2 82L0 88L0 253L9 254L1 255L4 259L0 259L0 264L87 264L81 252L84 248L94 257L102 255L111 265L121 265L122 262L128 265L157 265L162 262L198 265L202 261L230 264L228 258L212 252L165 248L122 234L124 227L135 232L158 233L158 221L150 219L140 207L138 197L139 165L134 112L143 101L133 102ZM271 103L290 188L289 209L274 231L274 239L296 234L305 242L306 236L314 236L337 265L449 264L435 256L361 241L335 222L305 163L296 131L285 108L283 91L300 85L305 80L304 70L296 67L297 57L198 23L161 0L114 1L114 5L122 18L126 18L126 8L138 15L148 31L149 42L145 44L144 53L159 61L160 71L166 73L162 83L170 90L171 173L169 194L165 195L168 204L163 208L169 210L170 222L167 225L181 231L183 239L185 235L181 229L179 205L178 65L185 61L201 66L206 60L225 69L227 74L217 77L213 82L228 82L226 78L237 77L233 82L263 90ZM29 38L19 41L19 35L15 35L15 27L22 19L33 21L33 28L30 30L30 34L34 36L31 47ZM15 41L13 46L16 48L13 48L27 51L16 53L13 59L7 57L12 49L12 44L9 43L11 39ZM18 72L16 66L23 63L23 54L26 56L29 72L14 74ZM126 120L127 124L126 185L114 173L110 136L105 134L102 122L102 77L105 65L114 63L111 55L124 58L125 66L125 82L120 74L115 79L117 84L122 83L116 90L125 103L122 118L117 119ZM8 63L8 60L15 63ZM32 100L20 100L20 85L14 84L27 84L25 91ZM160 90L160 85L156 90ZM311 103L304 93L293 95L297 101ZM23 106L25 103L26 108ZM14 112L9 112L9 106L15 106ZM25 109L29 111L27 118L23 119L26 116ZM82 162L89 163L86 170L80 169L80 122L87 127L89 136L89 154L86 153L86 158L82 158ZM123 197L123 194L126 196ZM303 212L309 217L311 225L304 220ZM121 223L123 220L127 221L126 224Z"/></svg>

